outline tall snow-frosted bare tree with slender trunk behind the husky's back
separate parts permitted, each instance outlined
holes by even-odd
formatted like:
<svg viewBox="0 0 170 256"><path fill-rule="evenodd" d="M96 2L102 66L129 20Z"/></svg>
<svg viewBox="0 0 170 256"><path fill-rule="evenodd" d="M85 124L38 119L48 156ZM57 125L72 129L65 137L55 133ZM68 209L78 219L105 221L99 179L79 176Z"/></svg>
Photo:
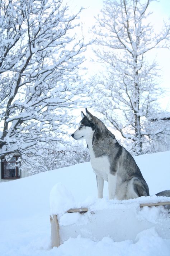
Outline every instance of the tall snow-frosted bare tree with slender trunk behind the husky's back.
<svg viewBox="0 0 170 256"><path fill-rule="evenodd" d="M154 33L147 22L151 2L106 0L94 27L96 43L102 46L95 53L107 65L107 75L93 78L93 93L98 95L95 106L131 142L131 152L137 155L145 151L151 135L164 132L163 127L154 131L148 122L157 112L160 90L155 80L157 64L149 63L146 56L154 48L165 47L170 24Z"/></svg>

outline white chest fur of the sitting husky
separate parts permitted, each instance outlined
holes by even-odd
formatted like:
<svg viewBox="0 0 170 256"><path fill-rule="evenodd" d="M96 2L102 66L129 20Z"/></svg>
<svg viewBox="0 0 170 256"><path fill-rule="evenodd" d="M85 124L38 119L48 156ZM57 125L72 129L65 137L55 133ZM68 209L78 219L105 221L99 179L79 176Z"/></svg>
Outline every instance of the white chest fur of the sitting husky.
<svg viewBox="0 0 170 256"><path fill-rule="evenodd" d="M97 176L101 176L104 180L108 181L108 173L110 172L110 163L108 156L102 155L96 157L93 149L92 140L86 140L89 147L91 166Z"/></svg>

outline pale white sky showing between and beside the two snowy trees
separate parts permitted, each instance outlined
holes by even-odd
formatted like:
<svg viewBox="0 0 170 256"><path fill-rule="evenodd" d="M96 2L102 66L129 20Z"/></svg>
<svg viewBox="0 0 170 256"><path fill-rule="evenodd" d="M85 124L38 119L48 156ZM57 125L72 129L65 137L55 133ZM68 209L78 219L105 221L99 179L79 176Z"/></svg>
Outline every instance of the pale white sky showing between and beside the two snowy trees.
<svg viewBox="0 0 170 256"><path fill-rule="evenodd" d="M72 12L78 11L81 7L84 9L80 16L80 22L84 24L84 36L88 37L89 27L95 24L94 16L97 16L102 9L102 0L65 0L70 6ZM161 30L163 20L170 16L170 0L153 1L150 4L151 22L157 31ZM87 53L88 54L88 53ZM91 54L91 53L90 53ZM170 111L170 49L154 50L150 53L149 58L154 58L159 63L162 79L159 81L160 86L166 88L166 97L161 100L161 105L165 110ZM96 72L98 65L88 62L90 72ZM95 70L96 69L96 70Z"/></svg>

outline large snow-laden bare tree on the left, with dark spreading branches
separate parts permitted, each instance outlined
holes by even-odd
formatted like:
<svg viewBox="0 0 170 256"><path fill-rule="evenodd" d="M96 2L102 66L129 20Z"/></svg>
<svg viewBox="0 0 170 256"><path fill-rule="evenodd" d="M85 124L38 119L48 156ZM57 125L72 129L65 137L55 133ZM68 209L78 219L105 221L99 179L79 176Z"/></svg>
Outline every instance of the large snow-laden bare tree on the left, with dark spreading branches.
<svg viewBox="0 0 170 256"><path fill-rule="evenodd" d="M1 157L61 139L66 109L83 89L78 15L62 0L0 1Z"/></svg>

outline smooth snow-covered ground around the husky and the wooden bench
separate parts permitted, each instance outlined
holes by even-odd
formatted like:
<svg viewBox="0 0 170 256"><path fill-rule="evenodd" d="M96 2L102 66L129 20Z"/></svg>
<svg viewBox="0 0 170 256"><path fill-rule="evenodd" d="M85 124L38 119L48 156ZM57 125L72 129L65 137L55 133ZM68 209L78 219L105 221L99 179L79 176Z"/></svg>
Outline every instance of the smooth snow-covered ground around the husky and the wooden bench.
<svg viewBox="0 0 170 256"><path fill-rule="evenodd" d="M151 195L170 189L170 151L137 156L135 160L148 183ZM90 163L76 164L21 180L0 183L1 256L170 255L170 239L160 237L154 228L142 231L134 240L115 242L105 236L96 242L78 236L69 238L60 247L52 249L49 195L57 183L71 191L72 195L68 194L70 199L66 202L68 207L72 206L73 202L84 206L93 203L103 206L108 201L107 184L104 187L104 199L98 201L95 198L96 178ZM59 185L61 193L62 185ZM58 191L60 192L60 189ZM62 200L57 202L61 205ZM159 217L163 217L164 214L166 217L170 216L163 207L141 209L142 215L149 215L150 212L150 217L155 220L159 214L162 214Z"/></svg>

